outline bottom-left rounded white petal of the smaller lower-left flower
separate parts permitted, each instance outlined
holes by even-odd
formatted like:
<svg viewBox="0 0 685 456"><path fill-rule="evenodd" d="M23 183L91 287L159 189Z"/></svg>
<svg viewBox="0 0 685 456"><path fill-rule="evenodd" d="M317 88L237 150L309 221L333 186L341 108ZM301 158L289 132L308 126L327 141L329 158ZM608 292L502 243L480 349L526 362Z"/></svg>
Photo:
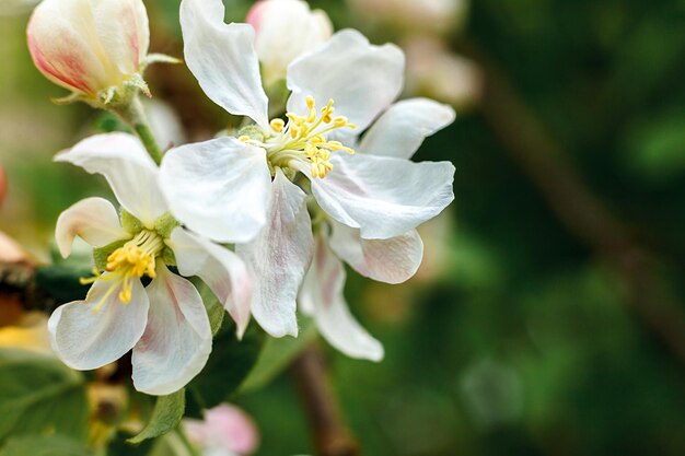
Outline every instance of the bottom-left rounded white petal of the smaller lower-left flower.
<svg viewBox="0 0 685 456"><path fill-rule="evenodd" d="M48 321L53 349L72 369L89 371L118 360L146 329L150 303L140 280L131 281L132 297L124 304L118 297L121 284L111 290L115 282L107 278L105 273L93 284L85 301L58 307Z"/></svg>

